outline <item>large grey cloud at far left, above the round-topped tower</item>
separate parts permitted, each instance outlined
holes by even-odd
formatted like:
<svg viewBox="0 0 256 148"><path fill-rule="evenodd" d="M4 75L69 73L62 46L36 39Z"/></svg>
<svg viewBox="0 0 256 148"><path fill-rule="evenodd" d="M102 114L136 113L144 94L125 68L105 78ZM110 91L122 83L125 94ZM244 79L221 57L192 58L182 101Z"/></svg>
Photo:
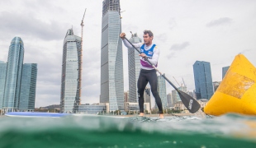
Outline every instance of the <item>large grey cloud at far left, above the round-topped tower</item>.
<svg viewBox="0 0 256 148"><path fill-rule="evenodd" d="M0 20L2 30L0 39L7 39L6 36L12 38L14 35L27 35L34 39L58 40L64 39L64 33L67 30L64 28L66 25L55 20L40 21L32 12L26 14L0 12Z"/></svg>

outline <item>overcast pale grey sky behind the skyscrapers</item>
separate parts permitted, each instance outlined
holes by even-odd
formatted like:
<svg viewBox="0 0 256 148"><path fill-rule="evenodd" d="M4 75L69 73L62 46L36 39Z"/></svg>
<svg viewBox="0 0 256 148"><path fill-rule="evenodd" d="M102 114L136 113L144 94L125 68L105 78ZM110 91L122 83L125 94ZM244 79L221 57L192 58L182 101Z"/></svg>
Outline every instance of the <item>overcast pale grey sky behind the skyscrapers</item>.
<svg viewBox="0 0 256 148"><path fill-rule="evenodd" d="M120 0L121 27L140 38L154 33L160 49L159 71L175 86L183 80L194 90L192 65L211 63L212 81L222 80L222 67L239 53L256 65L256 1L254 0ZM37 63L36 108L60 102L64 36L73 27L81 36L83 12L82 104L99 102L102 0L0 0L0 61L7 62L15 36L24 42L24 63ZM123 45L124 91L128 57ZM178 83L174 80L178 81ZM166 85L167 93L173 87ZM154 101L153 101L154 102Z"/></svg>

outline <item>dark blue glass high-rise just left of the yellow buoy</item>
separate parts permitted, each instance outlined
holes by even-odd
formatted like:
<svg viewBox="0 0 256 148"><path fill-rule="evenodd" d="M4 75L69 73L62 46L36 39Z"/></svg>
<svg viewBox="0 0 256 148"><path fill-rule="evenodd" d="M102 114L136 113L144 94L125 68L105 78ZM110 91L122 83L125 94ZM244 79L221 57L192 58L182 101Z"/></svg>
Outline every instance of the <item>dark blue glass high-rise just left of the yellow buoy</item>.
<svg viewBox="0 0 256 148"><path fill-rule="evenodd" d="M197 99L211 99L213 86L210 62L196 61L193 64Z"/></svg>

